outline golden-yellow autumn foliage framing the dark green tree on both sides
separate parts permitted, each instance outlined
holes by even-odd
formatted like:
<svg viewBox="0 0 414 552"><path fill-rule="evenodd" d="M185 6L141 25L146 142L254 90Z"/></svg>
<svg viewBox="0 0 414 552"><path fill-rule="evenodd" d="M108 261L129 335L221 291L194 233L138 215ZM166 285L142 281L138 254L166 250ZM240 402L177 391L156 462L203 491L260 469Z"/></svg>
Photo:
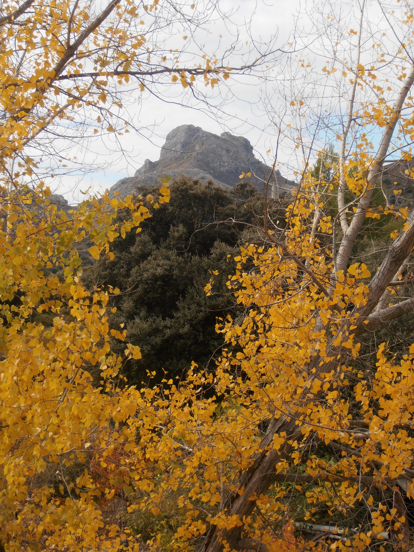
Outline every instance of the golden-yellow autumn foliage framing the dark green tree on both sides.
<svg viewBox="0 0 414 552"><path fill-rule="evenodd" d="M402 517L394 508L388 512L379 496L401 481L413 492L414 346L397 361L383 343L370 373L354 366L360 333L375 327L375 316L382 322L384 312L391 317L399 306L387 306L391 288L400 285L400 266L414 245L407 208L380 211L369 200L365 204L378 160L361 129L388 129L402 113L400 130L410 137L410 110L385 104L367 63L344 67L351 87L379 93L377 103L362 105L359 114L355 106L349 110L358 143L355 152L342 151L335 167L341 178L316 183L304 171L283 230L278 224L263 230L263 244L247 241L233 259L227 286L240 316L217 323L227 348L215 370L193 366L182 381L166 376L159 387L138 389L128 386L121 369L129 358L140 359L140 348L126 343L123 354L111 350L112 338L126 341L123 328L108 325L108 294L120 290L87 289L78 248L89 240L95 261L113 258L110 243L139 231L148 209L169 201L168 177L146 205L105 194L68 212L51 203L43 184L31 188L22 177L36 171L25 146L54 123L72 124L73 113L85 106L99 107L94 120L118 131L107 120L109 105L120 107L109 82L128 82L131 72L141 78L136 59L142 52L151 59L144 31L122 24L136 19L144 26L141 8L115 0L97 22L83 1L35 0L24 4L30 12L19 14L14 2L3 4L0 538L8 551L136 549L138 539L124 527L125 519L133 521L139 512L162 516L171 495L171 550L193 550L208 534L215 550L230 551L240 531L252 549L305 550L308 545L289 523L293 492L309 523L321 504L344 516L361 503L367 508L369 527L351 535L344 529L332 549L366 550L390 523L398 530ZM160 8L156 0L142 10ZM89 70L86 58L93 68L82 79ZM193 86L194 75L211 88L220 75L229 77L229 67L220 69L206 55L203 60L192 71L162 71L184 88ZM400 69L399 82L406 78ZM340 78L336 67L321 71ZM397 96L412 82L397 84ZM290 107L302 112L305 102L295 97ZM346 132L338 135L345 148ZM384 158L382 152L378 162ZM343 195L342 207L332 208L333 190L337 198ZM128 221L120 216L123 209L130 211ZM404 220L391 233L396 254L384 266L399 263L392 274L381 266L371 276L365 264L349 262L352 247L344 253L344 244L357 239L353 224L358 228L361 221L360 229L363 220L376 221L383 213ZM401 243L406 250L398 249ZM385 287L375 295L376 275L384 273ZM205 288L209 294L214 275ZM335 454L321 454L325 449ZM110 517L115 499L130 518ZM162 527L152 533L149 546L157 550ZM309 549L323 546L312 544Z"/></svg>

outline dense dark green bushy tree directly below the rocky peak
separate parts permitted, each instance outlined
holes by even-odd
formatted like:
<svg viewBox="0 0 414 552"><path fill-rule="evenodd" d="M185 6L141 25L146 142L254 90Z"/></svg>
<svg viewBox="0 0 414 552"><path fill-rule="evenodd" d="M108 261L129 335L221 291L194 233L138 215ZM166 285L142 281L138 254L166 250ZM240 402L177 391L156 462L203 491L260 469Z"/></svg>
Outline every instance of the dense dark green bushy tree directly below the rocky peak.
<svg viewBox="0 0 414 552"><path fill-rule="evenodd" d="M155 195L153 188L138 192L144 199ZM282 204L273 208L283 220ZM216 317L236 309L226 286L232 258L238 244L254 240L251 230L261 225L264 199L246 182L229 192L182 177L171 183L170 202L151 213L142 232L113 242L113 261L97 262L84 277L91 290L101 284L121 290L111 299L117 310L110 324L118 330L124 324L126 340L142 353L125 367L130 383L147 380L147 372L155 372L156 380L164 370L181 377L192 360L206 367L219 353ZM215 293L206 296L213 271ZM121 342L115 347L125 348Z"/></svg>

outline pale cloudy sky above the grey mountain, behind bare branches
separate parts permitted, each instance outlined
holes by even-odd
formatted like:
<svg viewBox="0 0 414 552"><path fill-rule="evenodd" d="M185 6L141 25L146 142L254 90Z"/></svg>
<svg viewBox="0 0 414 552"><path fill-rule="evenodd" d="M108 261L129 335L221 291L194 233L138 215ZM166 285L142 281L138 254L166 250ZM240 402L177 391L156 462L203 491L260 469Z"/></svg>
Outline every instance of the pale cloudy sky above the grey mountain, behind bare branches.
<svg viewBox="0 0 414 552"><path fill-rule="evenodd" d="M221 59L233 45L235 50L230 59L233 66L240 66L269 47L276 53L268 58L265 67L252 75L231 72L230 78L214 89L204 88L201 83L202 101L194 98L191 88L184 90L180 84L171 86L171 77L167 77L168 82L157 79L144 92L140 92L136 84L126 86L123 117L132 123L129 134L98 134L95 140L80 140L77 145L65 142L61 146L71 161L59 170L46 170L54 175L46 184L65 195L71 204L84 198L82 192L103 193L121 178L134 176L146 159L158 160L167 134L179 125L192 124L218 135L227 131L246 137L262 162L271 165L277 155L277 168L289 179L296 179L307 160L312 165L317 152L325 145L333 144L338 148L337 133L342 132L352 89L352 79L349 79L352 73L346 76L343 68L357 65L353 58L359 36L354 31L358 28L359 0L309 0L308 3L306 0L239 0L236 4L232 0L199 0L201 2L206 6L216 3L220 13L213 13L205 25L198 26L189 36L185 44L190 45L193 54L205 52L209 57L216 54ZM390 84L394 83L390 87L390 97L386 98L392 103L395 99L392 95L395 96L400 86L400 81L396 80L397 70L393 70L396 58L392 56L399 49L400 34L407 30L404 31L404 25L400 27L397 20L391 22L394 26L390 27L381 13L380 3L367 2L360 63L369 67L378 61L375 43L390 52L387 53L390 62L377 63L377 68L381 78L389 76ZM168 0L164 3L169 5ZM187 7L184 0L183 5ZM395 6L400 6L397 9L401 11L401 4L397 2ZM196 2L194 13L197 7ZM391 13L391 6L383 4L383 7ZM392 15L387 17L392 18ZM165 40L167 49L175 48L187 40L190 32L185 24L170 25L162 29L160 36L154 35L153 41L159 40L161 44ZM393 43L397 43L397 47ZM295 52L289 56L279 51L292 48ZM193 54L181 54L182 65L193 66ZM302 66L301 59L305 60ZM331 75L326 67L333 67L332 64L337 65L337 72L332 71ZM386 94L388 92L384 91ZM362 102L358 105L376 101L375 90L369 87L358 89L357 97L358 102ZM304 99L306 113L300 112L297 98ZM295 124L290 125L293 120ZM358 126L356 128L358 132ZM280 129L283 132L278 141ZM371 134L375 147L380 132L371 129ZM311 152L309 159L305 158L305 150Z"/></svg>

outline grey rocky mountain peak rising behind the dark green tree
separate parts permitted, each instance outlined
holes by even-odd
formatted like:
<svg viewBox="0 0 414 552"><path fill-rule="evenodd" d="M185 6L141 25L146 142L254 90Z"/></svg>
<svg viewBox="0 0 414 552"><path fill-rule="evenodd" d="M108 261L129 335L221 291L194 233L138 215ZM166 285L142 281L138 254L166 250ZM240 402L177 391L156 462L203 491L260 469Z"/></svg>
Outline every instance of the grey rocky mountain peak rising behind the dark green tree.
<svg viewBox="0 0 414 552"><path fill-rule="evenodd" d="M200 126L182 125L169 132L158 161L146 159L134 177L121 179L110 188L109 193L114 195L118 191L125 197L134 193L139 185L157 184L158 178L163 178L165 174L171 178L187 174L201 182L211 179L223 188L232 188L240 182L242 172L252 173L246 180L263 190L270 171L270 167L254 157L253 147L247 138L233 136L230 132L218 136ZM283 194L295 185L295 182L283 178L279 171L274 172L270 183L273 195Z"/></svg>

